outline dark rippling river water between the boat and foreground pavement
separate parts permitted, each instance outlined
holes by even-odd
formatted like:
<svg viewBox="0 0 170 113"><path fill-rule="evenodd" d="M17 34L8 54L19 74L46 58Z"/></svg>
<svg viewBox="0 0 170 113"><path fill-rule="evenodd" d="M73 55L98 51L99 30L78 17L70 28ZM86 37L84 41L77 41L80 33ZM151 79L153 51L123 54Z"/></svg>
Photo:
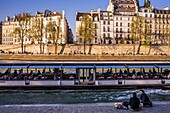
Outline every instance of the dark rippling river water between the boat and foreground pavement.
<svg viewBox="0 0 170 113"><path fill-rule="evenodd" d="M0 105L122 102L139 90L0 90ZM170 90L145 89L152 101L170 101Z"/></svg>

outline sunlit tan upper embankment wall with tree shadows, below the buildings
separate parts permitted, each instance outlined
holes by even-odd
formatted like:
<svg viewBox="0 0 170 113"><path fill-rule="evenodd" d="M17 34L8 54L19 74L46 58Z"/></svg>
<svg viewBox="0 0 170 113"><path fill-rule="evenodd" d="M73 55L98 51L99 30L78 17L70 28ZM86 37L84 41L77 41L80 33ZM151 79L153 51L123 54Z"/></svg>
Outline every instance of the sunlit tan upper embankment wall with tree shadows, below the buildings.
<svg viewBox="0 0 170 113"><path fill-rule="evenodd" d="M24 45L24 51L28 53L37 54L40 53L40 45ZM137 53L138 45L86 45L86 54L91 55L132 55L133 52ZM20 53L20 45L0 45L0 53L3 50L5 53L13 52ZM57 47L53 44L43 45L43 52L45 54L83 54L84 46L67 44L58 45ZM140 55L170 55L169 46L141 46Z"/></svg>

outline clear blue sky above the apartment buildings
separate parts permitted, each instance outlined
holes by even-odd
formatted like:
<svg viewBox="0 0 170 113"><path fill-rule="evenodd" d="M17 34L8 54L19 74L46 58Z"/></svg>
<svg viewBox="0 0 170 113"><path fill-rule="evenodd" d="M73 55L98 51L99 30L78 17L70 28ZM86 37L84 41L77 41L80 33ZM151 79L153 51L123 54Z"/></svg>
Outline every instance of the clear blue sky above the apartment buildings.
<svg viewBox="0 0 170 113"><path fill-rule="evenodd" d="M144 0L139 0L143 5ZM13 17L15 14L28 12L35 14L36 11L62 12L65 10L69 26L75 36L76 12L90 12L91 9L106 10L109 0L0 0L0 21L4 21L6 16ZM156 8L170 7L170 0L151 0L151 5Z"/></svg>

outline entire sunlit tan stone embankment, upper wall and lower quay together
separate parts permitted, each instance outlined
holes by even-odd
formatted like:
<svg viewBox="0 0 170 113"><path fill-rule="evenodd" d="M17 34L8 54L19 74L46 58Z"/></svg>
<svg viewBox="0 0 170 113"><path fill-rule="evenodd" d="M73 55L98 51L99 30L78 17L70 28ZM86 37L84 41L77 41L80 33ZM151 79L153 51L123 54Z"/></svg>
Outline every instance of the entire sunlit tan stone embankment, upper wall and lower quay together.
<svg viewBox="0 0 170 113"><path fill-rule="evenodd" d="M135 46L137 53L138 45ZM169 46L142 46L140 54L133 55L133 45L44 45L44 54L39 54L39 45L25 45L25 54L20 54L20 45L0 45L0 61L170 61ZM149 53L149 54L148 54Z"/></svg>

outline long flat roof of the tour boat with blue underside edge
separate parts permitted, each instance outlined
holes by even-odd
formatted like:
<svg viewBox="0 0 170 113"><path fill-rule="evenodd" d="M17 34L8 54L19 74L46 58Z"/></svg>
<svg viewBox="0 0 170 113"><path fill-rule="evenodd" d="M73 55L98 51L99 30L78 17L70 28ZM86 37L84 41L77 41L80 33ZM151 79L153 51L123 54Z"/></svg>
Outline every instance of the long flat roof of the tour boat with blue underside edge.
<svg viewBox="0 0 170 113"><path fill-rule="evenodd" d="M170 68L170 62L0 62L0 68Z"/></svg>

